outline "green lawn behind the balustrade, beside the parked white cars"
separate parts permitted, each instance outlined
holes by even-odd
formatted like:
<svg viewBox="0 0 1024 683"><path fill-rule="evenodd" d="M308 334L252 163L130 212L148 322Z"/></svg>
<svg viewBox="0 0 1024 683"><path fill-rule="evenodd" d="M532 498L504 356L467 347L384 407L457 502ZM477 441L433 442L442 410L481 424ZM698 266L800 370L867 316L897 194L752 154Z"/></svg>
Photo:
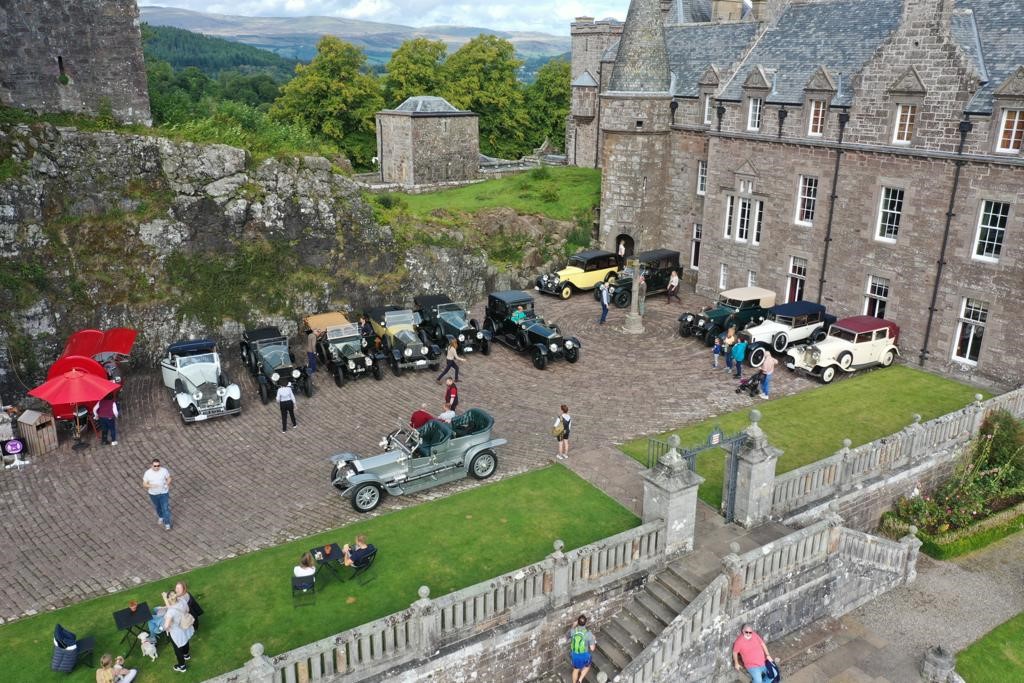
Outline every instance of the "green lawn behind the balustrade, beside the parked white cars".
<svg viewBox="0 0 1024 683"><path fill-rule="evenodd" d="M721 372L721 371L719 371ZM781 370L779 372L786 372ZM922 420L945 415L974 400L985 391L906 366L861 373L810 391L761 401L761 428L768 440L784 453L775 467L776 474L803 467L826 458L849 438L861 445L892 434L910 424L913 414ZM750 424L750 409L709 418L676 430L683 446L703 443L708 434L720 425L732 434ZM659 434L665 439L670 433ZM647 438L624 443L626 455L647 462ZM697 457L697 472L706 481L700 485L700 500L715 507L722 504L725 452L705 451Z"/></svg>

